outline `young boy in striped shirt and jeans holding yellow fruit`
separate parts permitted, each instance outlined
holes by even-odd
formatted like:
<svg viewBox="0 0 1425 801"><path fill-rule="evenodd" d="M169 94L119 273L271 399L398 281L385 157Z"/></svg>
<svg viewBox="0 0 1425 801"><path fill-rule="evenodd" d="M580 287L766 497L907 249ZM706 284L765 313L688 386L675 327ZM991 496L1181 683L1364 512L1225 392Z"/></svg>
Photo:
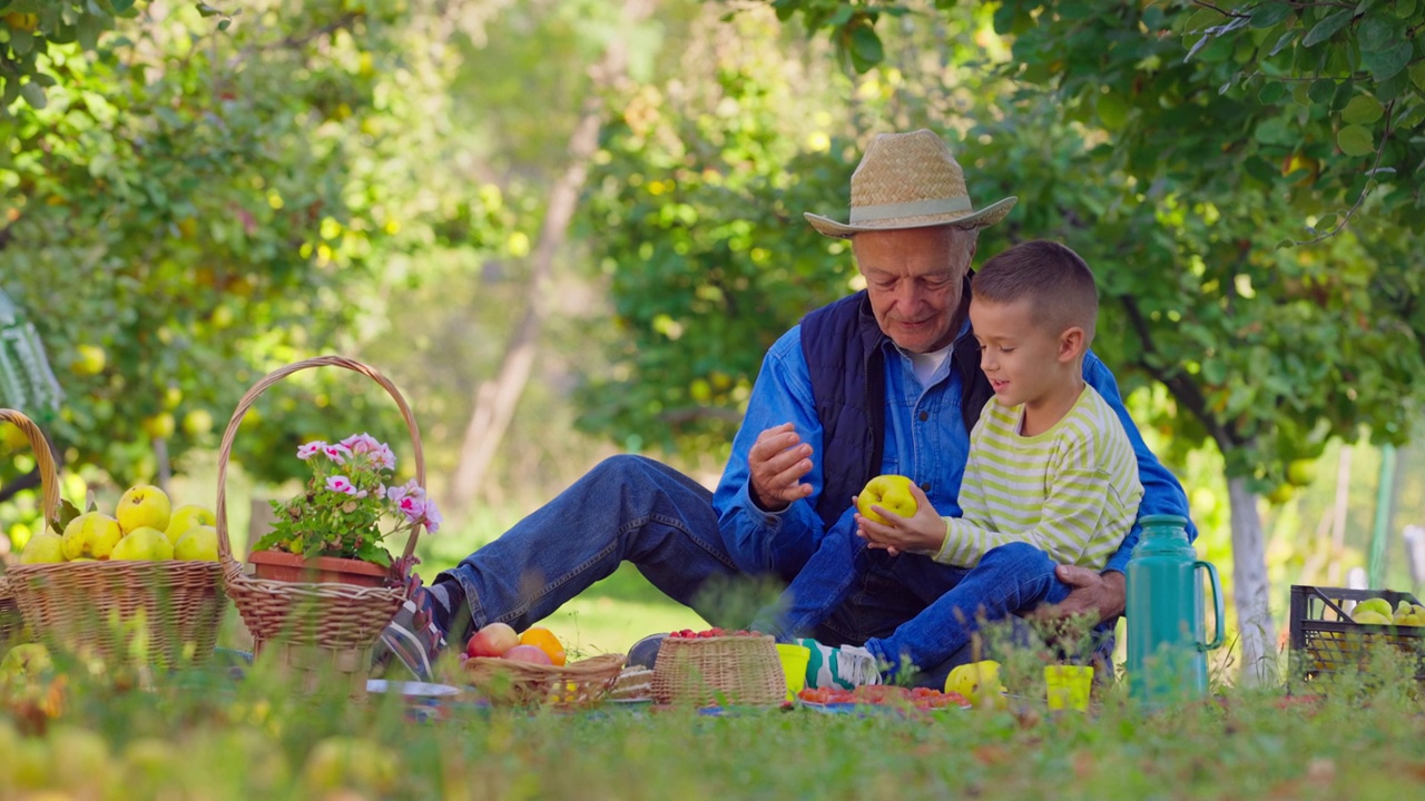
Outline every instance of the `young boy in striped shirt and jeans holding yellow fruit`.
<svg viewBox="0 0 1425 801"><path fill-rule="evenodd" d="M905 663L933 668L969 643L980 616L1062 601L1069 586L1056 564L1103 569L1133 526L1143 486L1123 425L1083 381L1097 311L1089 265L1057 242L1015 245L975 275L970 329L995 398L970 432L962 516L940 517L912 485L915 515L875 507L886 523L856 515L858 536L828 533L752 627L782 641L814 630L864 576L868 547L946 566L946 591L864 647L802 640L812 686L875 684Z"/></svg>

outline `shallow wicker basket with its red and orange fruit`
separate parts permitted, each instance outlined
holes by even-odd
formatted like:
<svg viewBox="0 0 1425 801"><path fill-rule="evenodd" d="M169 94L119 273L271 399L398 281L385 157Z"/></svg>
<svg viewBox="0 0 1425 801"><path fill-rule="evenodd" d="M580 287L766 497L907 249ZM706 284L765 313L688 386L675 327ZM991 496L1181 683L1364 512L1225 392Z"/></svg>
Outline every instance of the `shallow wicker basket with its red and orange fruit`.
<svg viewBox="0 0 1425 801"><path fill-rule="evenodd" d="M492 703L576 708L604 700L624 654L569 661L549 629L517 633L507 623L490 623L470 636L460 660L465 678Z"/></svg>

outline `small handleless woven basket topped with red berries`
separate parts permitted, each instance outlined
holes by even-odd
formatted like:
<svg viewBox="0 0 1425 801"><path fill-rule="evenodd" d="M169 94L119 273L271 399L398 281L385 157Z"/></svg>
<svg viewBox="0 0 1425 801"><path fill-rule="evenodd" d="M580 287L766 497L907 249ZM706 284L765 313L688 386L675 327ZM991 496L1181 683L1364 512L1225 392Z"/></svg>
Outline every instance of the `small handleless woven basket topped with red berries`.
<svg viewBox="0 0 1425 801"><path fill-rule="evenodd" d="M787 676L765 634L667 637L653 663L653 697L660 704L781 704Z"/></svg>

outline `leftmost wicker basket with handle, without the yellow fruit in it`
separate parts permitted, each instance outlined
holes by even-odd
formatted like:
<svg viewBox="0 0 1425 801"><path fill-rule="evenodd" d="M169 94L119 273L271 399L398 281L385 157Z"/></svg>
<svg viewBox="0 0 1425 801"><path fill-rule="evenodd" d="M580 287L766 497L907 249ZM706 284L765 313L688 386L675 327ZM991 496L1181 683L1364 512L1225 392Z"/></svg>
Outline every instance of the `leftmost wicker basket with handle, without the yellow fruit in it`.
<svg viewBox="0 0 1425 801"><path fill-rule="evenodd" d="M60 506L50 443L28 418L0 409L24 430L40 465L46 524ZM162 667L212 654L225 599L215 562L61 562L6 573L26 626L61 648L104 660L142 656Z"/></svg>

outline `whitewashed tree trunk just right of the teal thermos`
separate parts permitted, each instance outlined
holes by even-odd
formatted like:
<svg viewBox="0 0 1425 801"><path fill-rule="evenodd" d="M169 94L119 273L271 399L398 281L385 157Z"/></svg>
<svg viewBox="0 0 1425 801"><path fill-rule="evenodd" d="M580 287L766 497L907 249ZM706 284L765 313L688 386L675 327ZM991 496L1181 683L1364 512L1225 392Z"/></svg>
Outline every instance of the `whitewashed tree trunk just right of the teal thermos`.
<svg viewBox="0 0 1425 801"><path fill-rule="evenodd" d="M1271 620L1267 552L1263 544L1257 495L1243 477L1227 479L1233 517L1233 601L1241 644L1244 686L1275 681L1277 627Z"/></svg>

